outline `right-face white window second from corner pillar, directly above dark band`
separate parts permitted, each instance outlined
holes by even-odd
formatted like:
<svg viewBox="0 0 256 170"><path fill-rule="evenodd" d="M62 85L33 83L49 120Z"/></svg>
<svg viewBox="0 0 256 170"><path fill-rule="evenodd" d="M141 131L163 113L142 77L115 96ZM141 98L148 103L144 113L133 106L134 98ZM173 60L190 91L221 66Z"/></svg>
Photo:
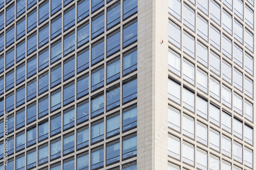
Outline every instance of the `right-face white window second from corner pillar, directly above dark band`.
<svg viewBox="0 0 256 170"><path fill-rule="evenodd" d="M188 60L183 60L183 79L191 84L195 84L195 65Z"/></svg>

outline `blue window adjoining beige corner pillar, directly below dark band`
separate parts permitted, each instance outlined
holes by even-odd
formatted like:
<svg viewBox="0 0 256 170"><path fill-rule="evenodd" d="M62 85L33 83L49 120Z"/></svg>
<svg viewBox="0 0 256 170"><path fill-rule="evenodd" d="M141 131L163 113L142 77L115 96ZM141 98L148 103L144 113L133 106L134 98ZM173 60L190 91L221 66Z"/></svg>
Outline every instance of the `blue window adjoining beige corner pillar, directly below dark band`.
<svg viewBox="0 0 256 170"><path fill-rule="evenodd" d="M137 98L137 79L123 84L123 103Z"/></svg>

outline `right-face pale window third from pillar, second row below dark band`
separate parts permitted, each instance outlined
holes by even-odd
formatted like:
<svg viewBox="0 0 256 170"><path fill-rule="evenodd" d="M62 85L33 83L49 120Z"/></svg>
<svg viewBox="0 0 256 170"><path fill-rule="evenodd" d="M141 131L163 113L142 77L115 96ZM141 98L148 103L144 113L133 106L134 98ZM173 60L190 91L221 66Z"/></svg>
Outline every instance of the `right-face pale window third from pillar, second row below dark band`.
<svg viewBox="0 0 256 170"><path fill-rule="evenodd" d="M197 121L197 141L208 145L208 128L207 125Z"/></svg>

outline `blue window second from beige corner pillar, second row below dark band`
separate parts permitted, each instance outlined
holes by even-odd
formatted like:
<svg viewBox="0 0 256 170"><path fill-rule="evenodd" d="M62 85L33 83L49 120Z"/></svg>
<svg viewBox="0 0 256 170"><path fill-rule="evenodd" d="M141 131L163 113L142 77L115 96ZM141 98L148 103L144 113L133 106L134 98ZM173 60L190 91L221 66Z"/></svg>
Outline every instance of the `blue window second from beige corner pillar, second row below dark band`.
<svg viewBox="0 0 256 170"><path fill-rule="evenodd" d="M117 135L120 132L120 115L111 116L106 120L106 137Z"/></svg>

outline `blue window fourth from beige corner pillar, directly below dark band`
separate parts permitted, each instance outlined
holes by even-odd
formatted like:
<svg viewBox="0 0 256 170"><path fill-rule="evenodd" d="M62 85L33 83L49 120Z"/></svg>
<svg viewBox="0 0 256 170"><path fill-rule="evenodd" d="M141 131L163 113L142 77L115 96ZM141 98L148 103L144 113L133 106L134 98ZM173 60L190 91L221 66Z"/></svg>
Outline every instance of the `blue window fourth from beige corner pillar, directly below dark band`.
<svg viewBox="0 0 256 170"><path fill-rule="evenodd" d="M77 106L76 110L77 124L89 119L89 102Z"/></svg>

